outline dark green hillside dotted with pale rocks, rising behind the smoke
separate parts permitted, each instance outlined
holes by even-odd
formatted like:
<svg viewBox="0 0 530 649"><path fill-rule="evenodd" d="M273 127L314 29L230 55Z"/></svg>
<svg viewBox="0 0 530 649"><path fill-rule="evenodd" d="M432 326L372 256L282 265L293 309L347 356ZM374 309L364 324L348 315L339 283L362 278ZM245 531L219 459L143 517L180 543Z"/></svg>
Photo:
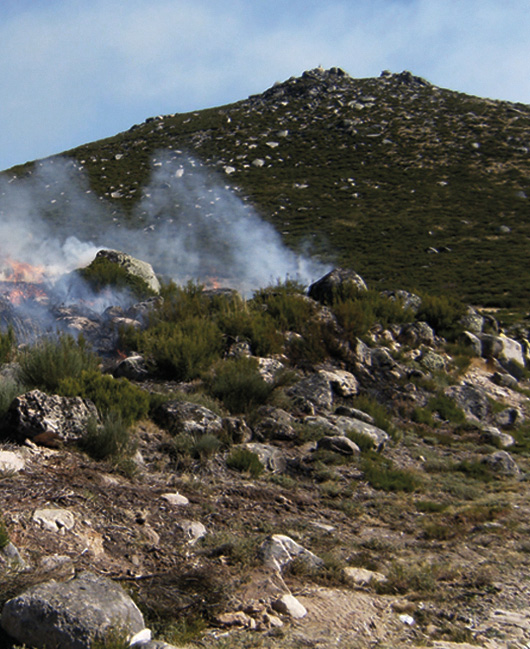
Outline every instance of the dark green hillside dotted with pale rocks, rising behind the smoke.
<svg viewBox="0 0 530 649"><path fill-rule="evenodd" d="M217 170L289 246L354 268L373 288L528 310L529 148L529 106L409 72L353 79L332 68L150 118L66 155L115 219L145 225L142 188L183 152Z"/></svg>

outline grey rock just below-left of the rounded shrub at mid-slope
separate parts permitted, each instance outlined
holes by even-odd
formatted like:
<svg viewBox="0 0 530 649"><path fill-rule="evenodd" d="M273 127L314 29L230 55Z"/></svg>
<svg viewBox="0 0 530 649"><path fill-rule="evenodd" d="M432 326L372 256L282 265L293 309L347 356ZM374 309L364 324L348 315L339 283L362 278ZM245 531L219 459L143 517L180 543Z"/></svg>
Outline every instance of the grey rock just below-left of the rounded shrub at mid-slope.
<svg viewBox="0 0 530 649"><path fill-rule="evenodd" d="M189 401L167 401L153 413L153 419L171 434L217 435L223 428L223 420L204 406Z"/></svg>

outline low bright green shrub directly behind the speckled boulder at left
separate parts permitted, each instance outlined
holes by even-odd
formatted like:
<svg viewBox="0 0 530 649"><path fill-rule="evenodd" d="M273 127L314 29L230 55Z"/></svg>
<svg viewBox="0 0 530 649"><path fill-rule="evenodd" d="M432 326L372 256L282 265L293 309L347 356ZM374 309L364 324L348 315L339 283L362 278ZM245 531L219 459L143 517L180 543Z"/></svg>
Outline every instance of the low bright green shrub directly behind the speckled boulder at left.
<svg viewBox="0 0 530 649"><path fill-rule="evenodd" d="M78 378L61 381L58 391L64 396L90 399L102 414L117 413L125 425L147 417L149 394L125 378L115 379L99 371L84 371Z"/></svg>

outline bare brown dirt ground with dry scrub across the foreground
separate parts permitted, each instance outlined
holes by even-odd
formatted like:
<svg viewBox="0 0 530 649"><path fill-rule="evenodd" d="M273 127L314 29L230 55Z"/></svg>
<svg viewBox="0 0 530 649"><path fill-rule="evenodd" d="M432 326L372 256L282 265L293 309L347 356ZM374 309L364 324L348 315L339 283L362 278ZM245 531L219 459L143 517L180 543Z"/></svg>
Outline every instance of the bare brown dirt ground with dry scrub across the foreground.
<svg viewBox="0 0 530 649"><path fill-rule="evenodd" d="M135 471L72 448L27 448L26 468L2 475L9 536L31 566L6 572L2 601L27 584L89 569L120 580L156 636L176 646L528 646L524 453L514 453L522 476L486 481L454 470L470 449L480 452L472 435L454 445L421 427L403 429L384 454L420 480L406 492L374 489L358 458L317 464L307 445L278 443L288 470L251 478L229 470L222 453L176 466L170 436L152 422L138 424L135 434ZM162 497L177 492L188 505ZM37 525L33 513L46 507L72 512L73 529ZM202 523L206 536L190 542L187 521ZM291 536L325 567L294 564L282 583L258 558L270 534ZM43 563L57 556L63 559ZM347 566L387 581L352 585ZM262 614L285 586L308 614L271 628ZM257 628L216 622L242 609Z"/></svg>

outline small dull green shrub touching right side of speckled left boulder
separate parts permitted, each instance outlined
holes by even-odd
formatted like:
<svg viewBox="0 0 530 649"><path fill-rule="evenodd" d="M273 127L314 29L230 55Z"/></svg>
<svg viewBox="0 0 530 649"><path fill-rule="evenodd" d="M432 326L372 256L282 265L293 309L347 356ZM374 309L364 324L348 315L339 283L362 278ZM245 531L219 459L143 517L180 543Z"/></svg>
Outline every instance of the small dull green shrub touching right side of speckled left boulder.
<svg viewBox="0 0 530 649"><path fill-rule="evenodd" d="M117 412L105 415L102 424L90 419L79 446L95 460L119 460L133 449L129 429Z"/></svg>

